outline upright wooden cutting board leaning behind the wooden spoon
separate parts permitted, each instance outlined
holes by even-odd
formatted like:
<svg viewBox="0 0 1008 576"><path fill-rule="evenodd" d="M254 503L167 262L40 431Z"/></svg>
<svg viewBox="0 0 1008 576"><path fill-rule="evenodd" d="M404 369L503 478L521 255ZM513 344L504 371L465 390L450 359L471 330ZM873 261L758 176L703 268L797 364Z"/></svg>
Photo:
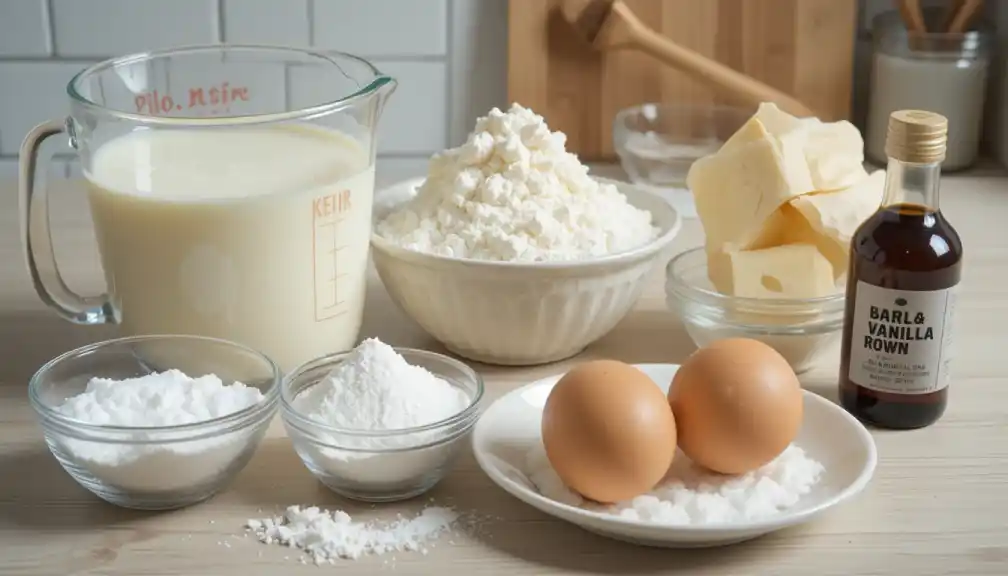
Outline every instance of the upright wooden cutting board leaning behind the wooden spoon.
<svg viewBox="0 0 1008 576"><path fill-rule="evenodd" d="M857 0L625 0L674 41L796 96L824 120L850 115ZM601 54L561 0L510 0L508 97L542 114L587 160L612 159L616 112L645 102L727 100L636 51Z"/></svg>

